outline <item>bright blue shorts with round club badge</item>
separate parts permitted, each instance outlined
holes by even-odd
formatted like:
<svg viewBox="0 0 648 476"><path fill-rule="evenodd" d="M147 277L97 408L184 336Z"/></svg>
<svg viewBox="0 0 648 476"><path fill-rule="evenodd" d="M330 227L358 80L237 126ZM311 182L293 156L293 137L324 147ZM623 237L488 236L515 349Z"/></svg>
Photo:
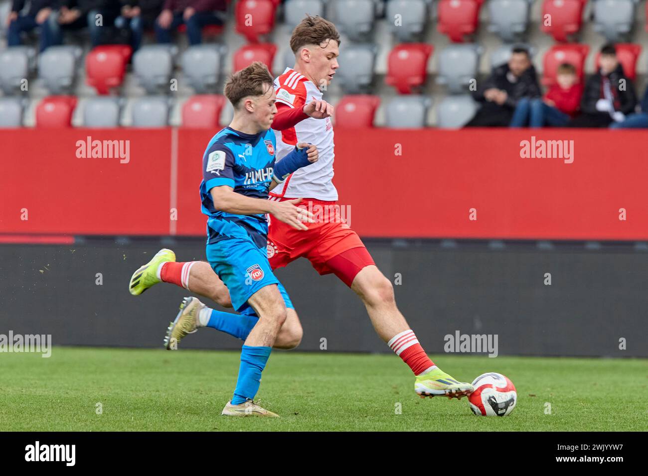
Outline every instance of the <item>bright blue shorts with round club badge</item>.
<svg viewBox="0 0 648 476"><path fill-rule="evenodd" d="M232 306L237 312L257 315L248 304L248 299L270 284L277 284L286 308L294 309L286 289L272 272L266 248L259 248L244 238L230 238L207 244L206 251L209 264L227 286Z"/></svg>

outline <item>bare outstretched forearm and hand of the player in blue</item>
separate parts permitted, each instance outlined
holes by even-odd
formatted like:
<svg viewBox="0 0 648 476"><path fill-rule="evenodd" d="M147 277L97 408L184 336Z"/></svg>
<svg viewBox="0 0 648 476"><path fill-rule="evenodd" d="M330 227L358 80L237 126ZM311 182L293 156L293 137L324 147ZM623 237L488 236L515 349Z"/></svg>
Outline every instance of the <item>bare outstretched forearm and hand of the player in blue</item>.
<svg viewBox="0 0 648 476"><path fill-rule="evenodd" d="M214 208L226 213L236 215L255 215L270 213L278 220L288 223L298 230L307 230L303 220L314 220L314 215L305 209L295 207L301 199L272 201L262 198L251 198L237 194L228 185L219 185L209 190Z"/></svg>

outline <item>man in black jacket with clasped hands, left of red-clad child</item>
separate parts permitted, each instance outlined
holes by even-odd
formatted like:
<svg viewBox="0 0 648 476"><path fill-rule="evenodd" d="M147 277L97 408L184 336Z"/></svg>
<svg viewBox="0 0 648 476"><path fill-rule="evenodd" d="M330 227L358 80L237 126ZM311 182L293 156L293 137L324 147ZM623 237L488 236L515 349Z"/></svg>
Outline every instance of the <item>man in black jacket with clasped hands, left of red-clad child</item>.
<svg viewBox="0 0 648 476"><path fill-rule="evenodd" d="M540 85L531 64L529 52L515 47L508 63L494 67L475 98L483 106L466 127L505 127L513 119L513 111L521 98L540 96Z"/></svg>

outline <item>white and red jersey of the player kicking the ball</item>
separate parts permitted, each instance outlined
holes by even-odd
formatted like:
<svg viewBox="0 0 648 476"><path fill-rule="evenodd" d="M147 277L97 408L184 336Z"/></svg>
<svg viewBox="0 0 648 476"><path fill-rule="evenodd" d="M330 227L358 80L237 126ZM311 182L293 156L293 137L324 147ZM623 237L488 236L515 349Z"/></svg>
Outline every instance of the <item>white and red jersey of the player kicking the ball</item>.
<svg viewBox="0 0 648 476"><path fill-rule="evenodd" d="M275 79L277 102L291 108L301 108L312 100L321 100L322 92L306 76L292 68L286 68L281 76ZM333 178L333 124L327 119L309 117L297 123L293 128L275 131L277 135L277 161L290 153L297 142L310 142L318 148L319 159L316 163L300 168L291 174L284 183L278 185L273 193L290 198L315 198L325 201L338 199Z"/></svg>

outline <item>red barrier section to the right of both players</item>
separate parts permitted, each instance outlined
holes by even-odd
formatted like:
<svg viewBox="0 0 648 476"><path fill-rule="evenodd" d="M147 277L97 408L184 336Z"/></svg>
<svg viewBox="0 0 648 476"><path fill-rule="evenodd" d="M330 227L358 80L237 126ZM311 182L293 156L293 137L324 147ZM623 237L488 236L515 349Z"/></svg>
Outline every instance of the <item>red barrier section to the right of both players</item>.
<svg viewBox="0 0 648 476"><path fill-rule="evenodd" d="M647 131L375 130L335 139L334 183L363 236L648 238ZM522 141L537 152L543 141L573 141L573 162L522 158Z"/></svg>

